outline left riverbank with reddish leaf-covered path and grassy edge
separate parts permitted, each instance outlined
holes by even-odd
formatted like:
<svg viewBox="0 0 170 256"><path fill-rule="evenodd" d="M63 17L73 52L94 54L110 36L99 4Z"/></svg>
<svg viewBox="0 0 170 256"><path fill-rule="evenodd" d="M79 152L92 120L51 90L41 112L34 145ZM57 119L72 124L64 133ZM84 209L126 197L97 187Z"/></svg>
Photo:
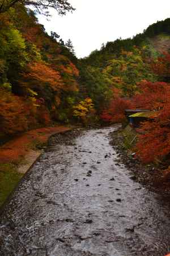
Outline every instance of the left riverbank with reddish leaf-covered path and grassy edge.
<svg viewBox="0 0 170 256"><path fill-rule="evenodd" d="M71 130L71 127L44 127L28 131L0 147L0 207L39 158L50 136Z"/></svg>

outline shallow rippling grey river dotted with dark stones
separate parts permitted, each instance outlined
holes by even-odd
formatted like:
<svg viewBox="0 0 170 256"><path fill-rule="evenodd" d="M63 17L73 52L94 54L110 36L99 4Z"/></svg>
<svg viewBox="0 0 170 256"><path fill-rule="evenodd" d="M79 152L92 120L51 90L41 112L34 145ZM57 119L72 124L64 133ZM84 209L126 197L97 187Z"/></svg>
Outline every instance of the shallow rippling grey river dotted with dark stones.
<svg viewBox="0 0 170 256"><path fill-rule="evenodd" d="M2 256L164 256L168 200L130 179L109 133L55 135L0 217Z"/></svg>

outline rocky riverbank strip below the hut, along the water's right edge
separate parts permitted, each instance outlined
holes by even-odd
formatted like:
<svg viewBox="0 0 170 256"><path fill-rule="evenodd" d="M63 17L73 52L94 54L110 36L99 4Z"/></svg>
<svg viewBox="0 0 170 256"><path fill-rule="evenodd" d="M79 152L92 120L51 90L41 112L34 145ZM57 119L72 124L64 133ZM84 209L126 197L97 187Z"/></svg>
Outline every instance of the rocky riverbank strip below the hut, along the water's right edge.
<svg viewBox="0 0 170 256"><path fill-rule="evenodd" d="M119 156L117 162L125 164L131 171L131 179L145 185L150 191L170 195L170 174L166 174L160 166L139 162L135 158L135 152L126 144L124 129L114 131L110 136L111 144Z"/></svg>

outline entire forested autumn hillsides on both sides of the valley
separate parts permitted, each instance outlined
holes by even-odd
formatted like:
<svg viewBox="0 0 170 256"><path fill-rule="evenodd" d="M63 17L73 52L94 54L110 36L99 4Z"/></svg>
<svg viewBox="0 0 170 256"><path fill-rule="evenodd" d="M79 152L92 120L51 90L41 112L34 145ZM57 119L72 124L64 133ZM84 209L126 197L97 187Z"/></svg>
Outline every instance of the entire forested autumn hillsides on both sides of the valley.
<svg viewBox="0 0 170 256"><path fill-rule="evenodd" d="M168 84L161 84L170 80L169 18L78 60L71 40L48 35L36 14L16 3L0 11L0 45L3 140L56 122L124 122L127 108L157 111L169 102Z"/></svg>

